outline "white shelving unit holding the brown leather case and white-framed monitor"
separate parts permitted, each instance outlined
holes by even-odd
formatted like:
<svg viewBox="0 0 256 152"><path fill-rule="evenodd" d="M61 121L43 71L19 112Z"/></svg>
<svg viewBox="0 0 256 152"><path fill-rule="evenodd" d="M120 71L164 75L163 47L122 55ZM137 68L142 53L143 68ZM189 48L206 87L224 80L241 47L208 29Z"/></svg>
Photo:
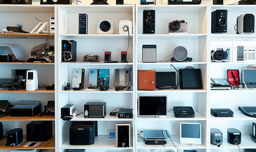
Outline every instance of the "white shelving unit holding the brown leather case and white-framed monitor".
<svg viewBox="0 0 256 152"><path fill-rule="evenodd" d="M207 101L209 100L207 92L207 12L206 5L139 5L136 8L136 69L138 70L155 70L157 71L173 71L179 82L179 73L175 70L191 66L200 68L202 73L202 89L163 89L163 90L137 90L135 87L135 100L141 95L167 95L167 117L138 117L136 115L136 132L139 134L143 130L168 130L171 135L171 140L167 139L166 145L146 145L141 137L136 138L138 152L151 152L152 150L197 150L197 152L206 152L209 143L207 135ZM155 33L143 33L144 10L155 10ZM187 33L169 33L168 23L173 20L185 20L188 23ZM143 62L142 45L156 45L156 61ZM187 50L187 57L192 57L193 60L183 62L171 62L173 57L173 49L176 46L183 46ZM136 75L137 75L137 70ZM176 118L173 114L173 106L192 106L195 111L193 118ZM135 106L136 110L138 104ZM136 114L138 111L135 112ZM202 124L202 144L189 145L180 144L180 123L191 122Z"/></svg>

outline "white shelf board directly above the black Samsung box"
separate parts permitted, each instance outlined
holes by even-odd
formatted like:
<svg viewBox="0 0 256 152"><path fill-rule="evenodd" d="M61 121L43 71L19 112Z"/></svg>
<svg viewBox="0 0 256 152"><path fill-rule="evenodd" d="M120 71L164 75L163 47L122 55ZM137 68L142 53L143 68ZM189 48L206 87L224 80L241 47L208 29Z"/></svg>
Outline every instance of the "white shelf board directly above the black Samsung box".
<svg viewBox="0 0 256 152"><path fill-rule="evenodd" d="M70 121L132 121L132 118L118 118L116 116L110 116L109 112L106 112L105 118L84 118L82 114L76 115Z"/></svg>

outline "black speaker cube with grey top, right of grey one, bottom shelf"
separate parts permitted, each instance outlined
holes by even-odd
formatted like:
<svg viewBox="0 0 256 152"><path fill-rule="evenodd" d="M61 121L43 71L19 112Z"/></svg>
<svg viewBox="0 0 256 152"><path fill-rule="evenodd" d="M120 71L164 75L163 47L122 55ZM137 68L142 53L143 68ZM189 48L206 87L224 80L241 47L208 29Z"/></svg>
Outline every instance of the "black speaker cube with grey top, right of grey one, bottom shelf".
<svg viewBox="0 0 256 152"><path fill-rule="evenodd" d="M227 129L227 141L233 145L241 143L241 132L234 128Z"/></svg>

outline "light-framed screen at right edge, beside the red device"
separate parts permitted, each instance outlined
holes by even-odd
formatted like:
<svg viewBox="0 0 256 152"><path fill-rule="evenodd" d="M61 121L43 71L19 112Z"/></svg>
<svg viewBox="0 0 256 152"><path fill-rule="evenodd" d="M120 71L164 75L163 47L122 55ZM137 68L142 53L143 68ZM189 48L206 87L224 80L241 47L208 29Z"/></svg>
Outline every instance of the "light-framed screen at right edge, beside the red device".
<svg viewBox="0 0 256 152"><path fill-rule="evenodd" d="M243 68L242 82L256 83L256 68Z"/></svg>

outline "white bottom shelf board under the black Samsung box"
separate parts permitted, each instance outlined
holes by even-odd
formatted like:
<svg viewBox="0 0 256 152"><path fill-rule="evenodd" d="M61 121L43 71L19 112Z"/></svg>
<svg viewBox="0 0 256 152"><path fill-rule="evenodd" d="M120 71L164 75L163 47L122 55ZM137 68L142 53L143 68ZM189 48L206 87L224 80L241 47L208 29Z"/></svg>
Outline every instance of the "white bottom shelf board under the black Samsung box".
<svg viewBox="0 0 256 152"><path fill-rule="evenodd" d="M132 136L130 137L132 143ZM116 147L116 139L115 138L110 138L109 136L97 136L94 139L94 144L92 145L70 145L69 144L69 138L67 138L64 143L60 146L60 148L63 149L132 149L132 144L131 147Z"/></svg>

